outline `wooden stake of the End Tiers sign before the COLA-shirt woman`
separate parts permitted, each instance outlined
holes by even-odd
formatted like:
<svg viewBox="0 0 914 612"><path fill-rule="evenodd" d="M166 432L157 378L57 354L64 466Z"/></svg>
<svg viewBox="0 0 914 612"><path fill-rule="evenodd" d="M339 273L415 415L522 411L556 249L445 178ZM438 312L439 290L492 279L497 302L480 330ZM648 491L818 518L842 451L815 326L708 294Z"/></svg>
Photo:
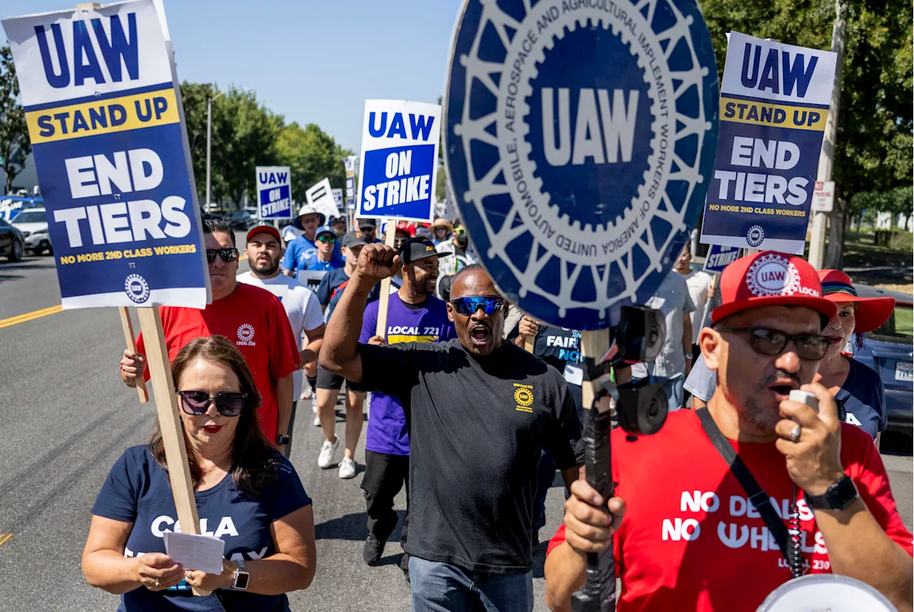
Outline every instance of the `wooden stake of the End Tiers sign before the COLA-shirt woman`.
<svg viewBox="0 0 914 612"><path fill-rule="evenodd" d="M159 428L162 430L165 461L168 464L172 494L175 496L177 520L181 522L181 533L198 535L200 521L197 515L197 500L194 498L194 484L187 464L187 448L184 444L181 417L178 414L175 381L172 379L171 365L168 362L162 318L157 307L140 307L136 311L140 317L140 329L143 330L146 365L153 383L155 412L159 418ZM193 590L194 595L209 595L208 591L196 587Z"/></svg>

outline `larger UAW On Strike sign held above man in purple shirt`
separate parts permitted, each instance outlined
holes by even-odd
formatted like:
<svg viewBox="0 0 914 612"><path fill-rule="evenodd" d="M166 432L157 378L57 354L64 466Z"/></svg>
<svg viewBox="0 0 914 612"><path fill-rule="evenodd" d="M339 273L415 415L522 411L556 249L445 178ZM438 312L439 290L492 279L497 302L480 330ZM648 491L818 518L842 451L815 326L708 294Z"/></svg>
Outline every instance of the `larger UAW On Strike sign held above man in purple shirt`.
<svg viewBox="0 0 914 612"><path fill-rule="evenodd" d="M366 100L356 216L430 222L440 134L437 104Z"/></svg>

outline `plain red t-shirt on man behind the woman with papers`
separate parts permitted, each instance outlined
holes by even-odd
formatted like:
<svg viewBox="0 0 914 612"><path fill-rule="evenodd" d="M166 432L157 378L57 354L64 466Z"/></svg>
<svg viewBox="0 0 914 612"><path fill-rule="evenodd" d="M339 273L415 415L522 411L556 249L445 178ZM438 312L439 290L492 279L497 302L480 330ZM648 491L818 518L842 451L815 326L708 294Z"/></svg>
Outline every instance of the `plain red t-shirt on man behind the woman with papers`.
<svg viewBox="0 0 914 612"><path fill-rule="evenodd" d="M169 360L186 343L201 336L223 335L235 343L260 392L260 427L267 439L274 441L278 416L276 380L292 374L302 363L282 302L268 290L239 283L228 297L213 301L205 310L160 306L159 312ZM136 340L136 350L145 353L142 333ZM148 369L145 377L149 379Z"/></svg>

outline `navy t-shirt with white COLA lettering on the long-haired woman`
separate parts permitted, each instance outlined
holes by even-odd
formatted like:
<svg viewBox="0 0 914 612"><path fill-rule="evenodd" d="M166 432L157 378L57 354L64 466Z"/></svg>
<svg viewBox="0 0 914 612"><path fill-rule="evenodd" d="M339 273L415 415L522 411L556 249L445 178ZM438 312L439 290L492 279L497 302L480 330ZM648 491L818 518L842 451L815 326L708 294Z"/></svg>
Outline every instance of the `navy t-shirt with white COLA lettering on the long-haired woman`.
<svg viewBox="0 0 914 612"><path fill-rule="evenodd" d="M289 459L276 454L282 463L279 477L266 485L257 499L239 491L231 474L206 491L194 493L200 517L200 533L225 540L229 560L251 561L276 554L270 535L272 522L304 506L311 498ZM92 506L92 514L114 521L133 522L124 556L165 553L165 532L180 531L175 499L168 472L156 462L149 447L127 448L108 472ZM182 581L178 588L153 592L140 586L121 596L119 612L189 610L231 612L238 610L288 610L285 595L268 596L222 590L228 610L215 595L193 596Z"/></svg>

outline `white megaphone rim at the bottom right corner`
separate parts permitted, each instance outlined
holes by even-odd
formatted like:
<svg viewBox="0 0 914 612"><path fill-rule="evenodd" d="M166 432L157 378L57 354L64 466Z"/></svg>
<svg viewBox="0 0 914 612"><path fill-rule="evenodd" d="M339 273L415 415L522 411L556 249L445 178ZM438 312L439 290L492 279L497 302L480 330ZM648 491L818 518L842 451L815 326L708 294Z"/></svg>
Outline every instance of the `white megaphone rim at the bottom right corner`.
<svg viewBox="0 0 914 612"><path fill-rule="evenodd" d="M845 575L794 578L771 592L758 612L898 612L872 586Z"/></svg>

